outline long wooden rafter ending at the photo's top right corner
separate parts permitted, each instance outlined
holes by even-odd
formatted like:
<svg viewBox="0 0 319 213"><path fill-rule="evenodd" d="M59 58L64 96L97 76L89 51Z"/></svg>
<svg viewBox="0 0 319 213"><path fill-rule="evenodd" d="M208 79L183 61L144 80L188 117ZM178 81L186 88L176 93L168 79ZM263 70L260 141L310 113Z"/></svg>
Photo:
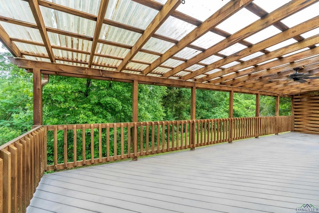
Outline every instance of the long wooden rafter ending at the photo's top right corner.
<svg viewBox="0 0 319 213"><path fill-rule="evenodd" d="M312 3L315 3L316 0L312 1L307 1L307 0L292 0L288 2L287 4L283 5L282 7L274 10L273 12L269 13L267 16L258 19L254 23L250 24L249 26L239 30L238 32L232 34L228 38L224 39L223 41L213 45L212 47L208 48L205 52L199 53L193 58L189 59L186 63L183 63L179 66L177 66L174 71L171 73L177 73L192 64L201 61L205 59L206 57L213 55L216 52L221 51L224 46L230 46L232 44L235 44L239 40L242 40L252 34L255 34L259 32L260 30L270 26L271 24L276 23L277 21L280 21L284 17L286 17L289 14L293 14L296 11L299 11L300 9L309 6ZM181 79L186 80L195 76L198 76L202 73L208 72L214 68L207 66L207 68L200 70L200 71L195 71L188 76L183 76ZM209 79L208 79L209 80Z"/></svg>

